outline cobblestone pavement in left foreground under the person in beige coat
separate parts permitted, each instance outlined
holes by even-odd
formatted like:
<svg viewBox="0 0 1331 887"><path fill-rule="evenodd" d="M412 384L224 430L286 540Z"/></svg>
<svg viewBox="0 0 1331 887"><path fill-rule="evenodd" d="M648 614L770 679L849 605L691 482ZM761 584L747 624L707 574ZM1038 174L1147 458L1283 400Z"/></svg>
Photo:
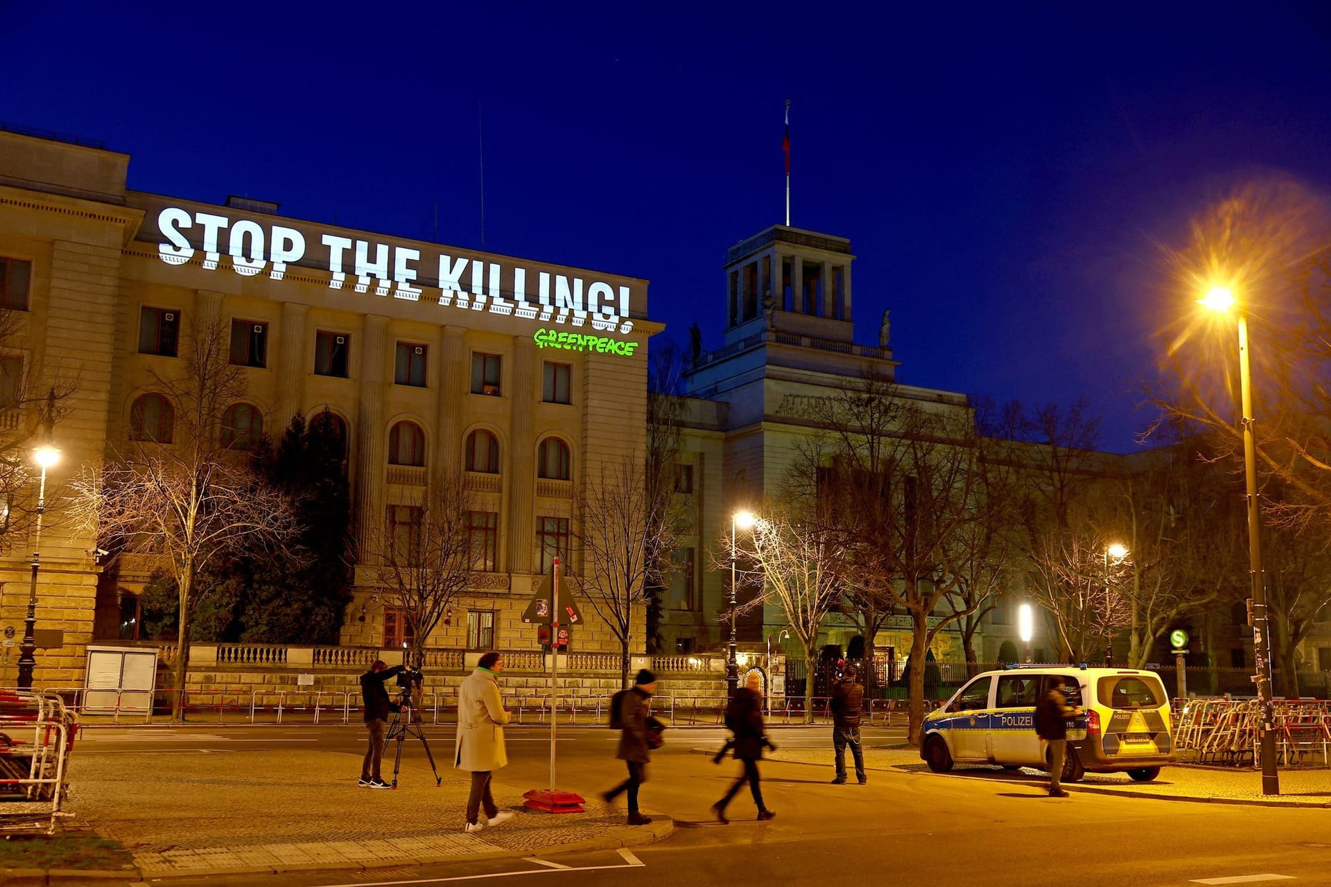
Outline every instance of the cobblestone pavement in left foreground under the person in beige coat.
<svg viewBox="0 0 1331 887"><path fill-rule="evenodd" d="M389 779L391 763L386 757ZM435 786L423 762L403 763L395 791L359 789L361 755L335 751L73 755L71 767L65 809L76 824L120 840L145 878L619 847L672 828L663 817L628 827L623 810L599 798L588 799L584 814L531 811L522 793L535 786L496 781L495 803L518 815L465 834L467 774L441 769Z"/></svg>

